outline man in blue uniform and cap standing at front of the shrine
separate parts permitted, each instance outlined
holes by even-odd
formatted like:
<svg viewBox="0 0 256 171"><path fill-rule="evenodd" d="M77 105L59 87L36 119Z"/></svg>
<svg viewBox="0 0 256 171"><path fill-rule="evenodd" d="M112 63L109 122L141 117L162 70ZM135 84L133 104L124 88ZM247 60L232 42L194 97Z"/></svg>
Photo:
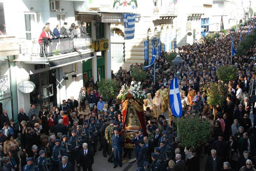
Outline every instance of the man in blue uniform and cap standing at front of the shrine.
<svg viewBox="0 0 256 171"><path fill-rule="evenodd" d="M117 164L122 167L122 146L123 136L118 134L118 128L114 128L114 134L112 135L112 151L114 151L114 168Z"/></svg>

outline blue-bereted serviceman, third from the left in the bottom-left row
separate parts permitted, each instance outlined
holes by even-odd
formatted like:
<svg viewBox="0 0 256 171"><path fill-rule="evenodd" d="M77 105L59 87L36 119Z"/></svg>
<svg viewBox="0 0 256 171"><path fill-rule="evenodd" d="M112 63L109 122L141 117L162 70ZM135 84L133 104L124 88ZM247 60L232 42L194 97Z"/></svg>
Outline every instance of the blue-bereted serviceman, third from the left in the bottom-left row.
<svg viewBox="0 0 256 171"><path fill-rule="evenodd" d="M55 145L52 149L52 155L51 155L51 159L52 159L52 167L53 170L56 171L58 170L58 165L61 161L61 153L60 153L60 140L57 139L55 140Z"/></svg>

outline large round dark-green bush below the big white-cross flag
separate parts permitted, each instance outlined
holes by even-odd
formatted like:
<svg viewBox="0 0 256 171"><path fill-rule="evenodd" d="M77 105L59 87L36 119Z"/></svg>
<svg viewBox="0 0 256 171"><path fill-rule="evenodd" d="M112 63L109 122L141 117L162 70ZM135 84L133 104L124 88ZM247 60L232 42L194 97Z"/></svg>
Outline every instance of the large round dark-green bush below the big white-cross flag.
<svg viewBox="0 0 256 171"><path fill-rule="evenodd" d="M212 126L208 120L202 121L198 115L187 118L176 118L178 137L186 147L199 147L207 143L211 136Z"/></svg>

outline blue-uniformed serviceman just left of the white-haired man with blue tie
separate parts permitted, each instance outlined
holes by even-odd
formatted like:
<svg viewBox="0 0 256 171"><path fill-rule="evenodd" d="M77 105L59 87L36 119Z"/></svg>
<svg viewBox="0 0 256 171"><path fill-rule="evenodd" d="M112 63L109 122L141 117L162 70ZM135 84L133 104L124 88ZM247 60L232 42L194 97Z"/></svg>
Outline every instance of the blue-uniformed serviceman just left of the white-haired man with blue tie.
<svg viewBox="0 0 256 171"><path fill-rule="evenodd" d="M75 166L75 159L76 153L78 152L78 148L79 147L76 142L76 131L73 130L68 140L68 150L70 151L70 157L68 157L68 159L70 160L70 163L72 164L73 168Z"/></svg>

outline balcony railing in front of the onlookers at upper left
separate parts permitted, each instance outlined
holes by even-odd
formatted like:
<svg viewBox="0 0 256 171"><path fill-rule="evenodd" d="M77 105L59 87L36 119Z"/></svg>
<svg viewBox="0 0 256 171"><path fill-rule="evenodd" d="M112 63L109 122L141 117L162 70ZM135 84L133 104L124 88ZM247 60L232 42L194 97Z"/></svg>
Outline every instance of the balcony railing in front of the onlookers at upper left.
<svg viewBox="0 0 256 171"><path fill-rule="evenodd" d="M91 37L31 39L20 41L20 55L23 57L50 57L64 53L81 51L92 47Z"/></svg>

